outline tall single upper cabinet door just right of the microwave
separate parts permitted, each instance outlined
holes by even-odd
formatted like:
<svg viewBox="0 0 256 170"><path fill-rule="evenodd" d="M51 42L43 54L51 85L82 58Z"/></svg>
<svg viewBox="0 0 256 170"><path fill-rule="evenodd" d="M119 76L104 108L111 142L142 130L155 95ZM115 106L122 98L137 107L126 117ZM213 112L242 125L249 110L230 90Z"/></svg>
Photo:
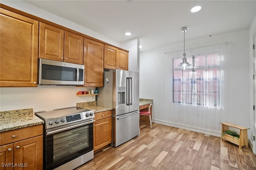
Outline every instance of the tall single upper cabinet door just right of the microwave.
<svg viewBox="0 0 256 170"><path fill-rule="evenodd" d="M104 45L84 38L84 86L103 87Z"/></svg>

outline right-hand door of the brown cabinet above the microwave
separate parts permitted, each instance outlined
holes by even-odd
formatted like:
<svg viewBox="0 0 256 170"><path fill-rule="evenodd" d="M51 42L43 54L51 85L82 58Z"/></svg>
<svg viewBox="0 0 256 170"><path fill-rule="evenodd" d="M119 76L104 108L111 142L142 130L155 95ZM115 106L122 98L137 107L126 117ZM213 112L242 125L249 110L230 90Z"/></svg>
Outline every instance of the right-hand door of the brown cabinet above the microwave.
<svg viewBox="0 0 256 170"><path fill-rule="evenodd" d="M64 61L68 63L83 64L83 37L65 31Z"/></svg>

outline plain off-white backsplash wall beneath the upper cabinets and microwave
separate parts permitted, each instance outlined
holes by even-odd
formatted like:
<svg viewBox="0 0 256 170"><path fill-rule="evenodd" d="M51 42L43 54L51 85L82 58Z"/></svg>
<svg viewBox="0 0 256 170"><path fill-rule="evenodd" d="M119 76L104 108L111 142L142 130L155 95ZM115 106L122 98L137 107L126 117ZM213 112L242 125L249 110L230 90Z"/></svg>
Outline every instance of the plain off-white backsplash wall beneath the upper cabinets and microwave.
<svg viewBox="0 0 256 170"><path fill-rule="evenodd" d="M76 106L95 101L95 96L76 96L78 91L95 89L76 86L0 88L0 111L33 108L33 111Z"/></svg>

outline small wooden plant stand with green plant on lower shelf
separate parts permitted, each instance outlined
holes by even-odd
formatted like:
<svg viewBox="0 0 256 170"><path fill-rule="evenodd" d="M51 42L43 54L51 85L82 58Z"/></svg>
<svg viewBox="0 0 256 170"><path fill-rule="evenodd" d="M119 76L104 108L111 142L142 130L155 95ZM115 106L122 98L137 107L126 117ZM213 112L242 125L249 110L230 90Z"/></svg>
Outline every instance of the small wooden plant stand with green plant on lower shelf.
<svg viewBox="0 0 256 170"><path fill-rule="evenodd" d="M233 123L229 122L222 122L222 127L221 127L221 140L224 139L226 141L229 141L231 143L234 143L236 145L239 145L239 149L242 149L242 146L246 146L248 148L248 135L247 135L247 127L242 127ZM234 127L236 129L240 129L240 139L237 137L233 137L231 135L225 134L222 135L223 132L228 131L229 127Z"/></svg>

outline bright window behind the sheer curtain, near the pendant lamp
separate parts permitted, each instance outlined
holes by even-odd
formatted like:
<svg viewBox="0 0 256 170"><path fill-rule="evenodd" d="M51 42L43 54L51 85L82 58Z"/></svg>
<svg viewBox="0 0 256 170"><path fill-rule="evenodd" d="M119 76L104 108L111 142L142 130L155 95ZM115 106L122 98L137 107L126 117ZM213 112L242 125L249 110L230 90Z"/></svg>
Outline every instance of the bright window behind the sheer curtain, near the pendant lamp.
<svg viewBox="0 0 256 170"><path fill-rule="evenodd" d="M183 70L173 59L173 103L220 107L220 55L218 52L186 57L192 66Z"/></svg>

